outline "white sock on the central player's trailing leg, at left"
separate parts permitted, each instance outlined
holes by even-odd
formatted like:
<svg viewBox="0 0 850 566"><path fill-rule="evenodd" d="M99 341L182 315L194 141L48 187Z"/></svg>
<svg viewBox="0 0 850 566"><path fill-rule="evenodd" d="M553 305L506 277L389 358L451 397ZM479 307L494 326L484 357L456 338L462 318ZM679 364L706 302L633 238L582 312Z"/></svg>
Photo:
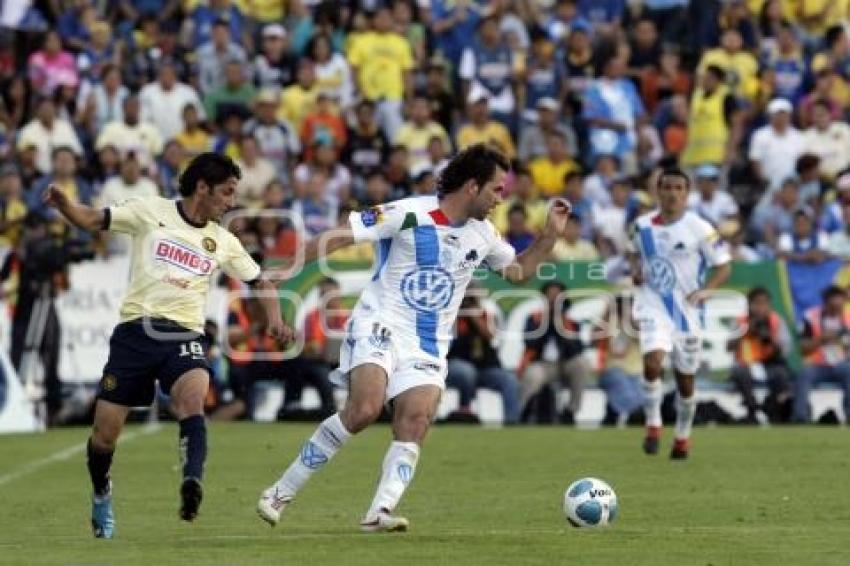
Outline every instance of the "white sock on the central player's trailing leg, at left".
<svg viewBox="0 0 850 566"><path fill-rule="evenodd" d="M339 413L328 417L316 428L310 440L301 446L301 452L274 487L280 493L294 496L310 476L322 469L350 438L351 433L342 424Z"/></svg>

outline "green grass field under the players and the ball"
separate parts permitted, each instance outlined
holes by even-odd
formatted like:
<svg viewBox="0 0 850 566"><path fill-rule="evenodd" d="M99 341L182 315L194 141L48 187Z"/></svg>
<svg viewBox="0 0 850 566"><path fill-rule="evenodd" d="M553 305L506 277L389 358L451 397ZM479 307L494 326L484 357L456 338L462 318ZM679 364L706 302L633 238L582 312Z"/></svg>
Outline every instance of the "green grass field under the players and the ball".
<svg viewBox="0 0 850 566"><path fill-rule="evenodd" d="M389 438L376 427L270 529L257 496L311 430L213 426L204 506L184 524L175 425L128 429L112 541L89 532L85 430L0 437L0 564L850 564L846 429L698 429L691 459L671 462L643 455L639 429L437 427L399 507L411 531L365 535ZM617 491L611 528L564 520L564 489L587 475Z"/></svg>

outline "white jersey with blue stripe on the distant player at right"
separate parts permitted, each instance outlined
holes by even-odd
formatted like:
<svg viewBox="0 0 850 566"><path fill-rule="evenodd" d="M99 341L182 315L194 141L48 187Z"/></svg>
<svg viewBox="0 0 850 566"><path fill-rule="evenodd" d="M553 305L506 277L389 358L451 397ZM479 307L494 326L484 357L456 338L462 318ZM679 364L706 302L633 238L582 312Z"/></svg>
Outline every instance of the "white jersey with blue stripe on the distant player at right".
<svg viewBox="0 0 850 566"><path fill-rule="evenodd" d="M673 224L651 212L635 221L632 245L644 279L635 296L636 318L666 316L677 331L698 331L701 313L686 298L703 286L709 267L731 259L714 227L691 211Z"/></svg>

